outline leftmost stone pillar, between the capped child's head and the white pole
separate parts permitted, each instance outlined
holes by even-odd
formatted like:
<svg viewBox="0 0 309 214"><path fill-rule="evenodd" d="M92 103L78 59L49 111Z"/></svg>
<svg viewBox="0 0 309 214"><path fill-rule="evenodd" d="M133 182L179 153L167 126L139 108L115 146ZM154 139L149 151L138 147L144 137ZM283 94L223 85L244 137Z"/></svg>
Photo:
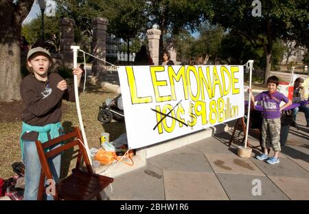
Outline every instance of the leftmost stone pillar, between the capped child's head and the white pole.
<svg viewBox="0 0 309 214"><path fill-rule="evenodd" d="M60 53L63 54L67 62L73 62L71 45L74 43L74 25L73 19L60 19Z"/></svg>

